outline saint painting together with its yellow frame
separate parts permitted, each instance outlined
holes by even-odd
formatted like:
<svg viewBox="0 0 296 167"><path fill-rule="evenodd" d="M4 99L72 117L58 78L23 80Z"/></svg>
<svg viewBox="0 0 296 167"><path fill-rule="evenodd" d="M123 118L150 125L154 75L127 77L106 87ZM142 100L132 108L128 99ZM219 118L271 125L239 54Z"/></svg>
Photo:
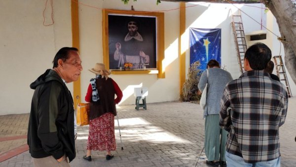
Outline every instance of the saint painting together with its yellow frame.
<svg viewBox="0 0 296 167"><path fill-rule="evenodd" d="M133 71L162 71L163 24L161 12L104 9L103 54L107 68L116 72L129 64Z"/></svg>

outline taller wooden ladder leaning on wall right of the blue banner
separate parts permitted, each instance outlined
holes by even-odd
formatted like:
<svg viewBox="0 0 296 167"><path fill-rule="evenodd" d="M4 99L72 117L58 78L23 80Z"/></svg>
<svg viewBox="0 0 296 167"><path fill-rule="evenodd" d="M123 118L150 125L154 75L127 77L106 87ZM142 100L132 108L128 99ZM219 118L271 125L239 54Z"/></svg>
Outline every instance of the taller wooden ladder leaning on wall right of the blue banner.
<svg viewBox="0 0 296 167"><path fill-rule="evenodd" d="M237 60L240 67L240 72L245 72L244 70L244 57L247 50L247 43L245 38L245 31L242 22L242 16L239 10L237 15L232 14L232 31L234 36L234 43L236 48Z"/></svg>

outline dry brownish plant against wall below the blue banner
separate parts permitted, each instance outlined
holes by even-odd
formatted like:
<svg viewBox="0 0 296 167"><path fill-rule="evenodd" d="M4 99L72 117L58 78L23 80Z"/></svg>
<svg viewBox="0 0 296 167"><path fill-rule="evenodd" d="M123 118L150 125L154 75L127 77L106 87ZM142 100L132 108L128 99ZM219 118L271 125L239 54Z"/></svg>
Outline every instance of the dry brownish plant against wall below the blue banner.
<svg viewBox="0 0 296 167"><path fill-rule="evenodd" d="M188 69L187 79L182 87L182 93L180 95L181 101L191 101L197 103L200 100L200 95L196 94L198 90L197 84L200 79L200 62L196 61L192 63Z"/></svg>

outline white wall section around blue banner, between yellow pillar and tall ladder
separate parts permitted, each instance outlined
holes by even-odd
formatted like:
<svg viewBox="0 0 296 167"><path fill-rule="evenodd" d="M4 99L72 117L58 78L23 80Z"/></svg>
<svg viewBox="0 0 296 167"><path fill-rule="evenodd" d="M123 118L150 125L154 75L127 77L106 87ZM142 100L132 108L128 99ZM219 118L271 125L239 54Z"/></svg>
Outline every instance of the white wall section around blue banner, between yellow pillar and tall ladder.
<svg viewBox="0 0 296 167"><path fill-rule="evenodd" d="M185 37L189 37L188 28L220 28L222 30L221 66L225 67L225 70L231 73L233 79L238 78L240 76L240 71L236 57L232 28L230 25L231 13L235 13L238 9L231 4L224 3L192 2L186 3L186 6L187 30ZM239 7L241 7L241 5ZM189 39L187 41L189 42ZM188 67L189 46L186 51L186 70Z"/></svg>

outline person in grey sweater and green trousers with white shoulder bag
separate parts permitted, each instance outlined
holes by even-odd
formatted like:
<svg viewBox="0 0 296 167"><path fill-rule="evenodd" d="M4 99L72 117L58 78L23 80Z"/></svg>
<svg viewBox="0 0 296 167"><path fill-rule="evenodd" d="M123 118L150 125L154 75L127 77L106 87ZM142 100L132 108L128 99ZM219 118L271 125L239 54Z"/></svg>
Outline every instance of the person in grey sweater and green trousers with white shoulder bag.
<svg viewBox="0 0 296 167"><path fill-rule="evenodd" d="M207 75L208 71L208 75ZM207 101L203 117L205 118L205 154L206 163L211 166L226 166L225 144L227 131L220 128L220 100L226 83L232 80L230 73L220 68L216 60L210 60L198 83L198 93L207 87ZM221 137L220 137L221 135Z"/></svg>

